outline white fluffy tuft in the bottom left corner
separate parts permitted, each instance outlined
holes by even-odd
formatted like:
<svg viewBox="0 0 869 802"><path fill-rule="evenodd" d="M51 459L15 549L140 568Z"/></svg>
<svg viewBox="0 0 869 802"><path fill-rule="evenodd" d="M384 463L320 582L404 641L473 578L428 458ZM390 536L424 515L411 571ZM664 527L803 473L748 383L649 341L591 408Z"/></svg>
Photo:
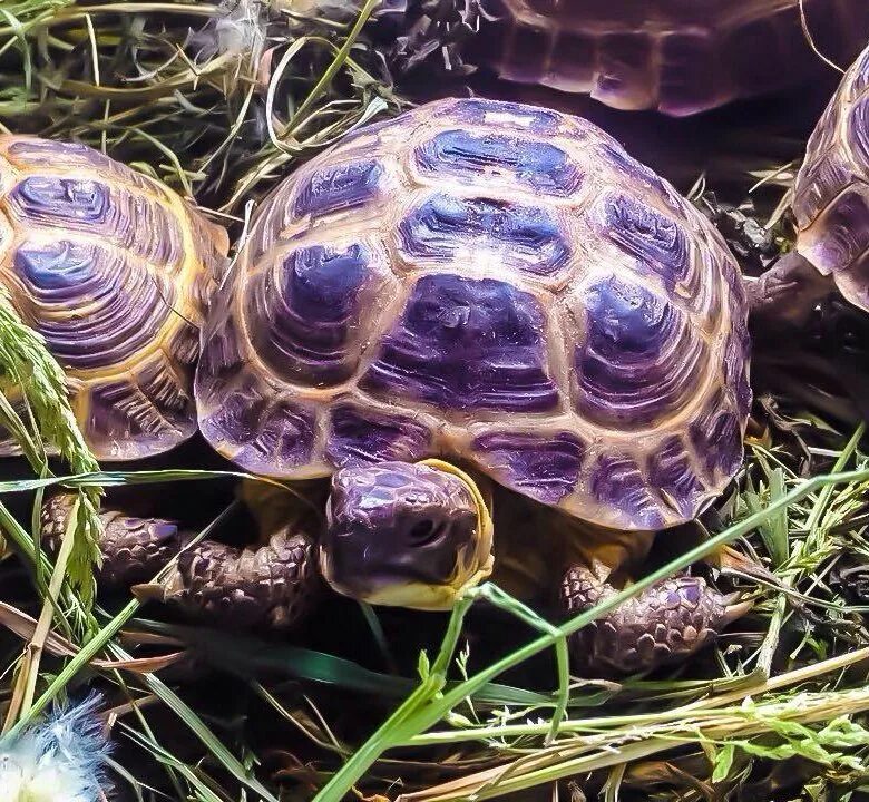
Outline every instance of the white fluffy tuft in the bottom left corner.
<svg viewBox="0 0 869 802"><path fill-rule="evenodd" d="M0 802L97 802L108 755L98 704L89 696L0 740Z"/></svg>

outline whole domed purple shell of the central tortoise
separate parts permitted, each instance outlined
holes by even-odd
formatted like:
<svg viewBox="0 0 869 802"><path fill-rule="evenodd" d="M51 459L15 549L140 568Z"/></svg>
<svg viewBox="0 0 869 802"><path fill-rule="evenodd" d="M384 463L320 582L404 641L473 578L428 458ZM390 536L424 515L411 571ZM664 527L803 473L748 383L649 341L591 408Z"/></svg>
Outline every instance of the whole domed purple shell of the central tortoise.
<svg viewBox="0 0 869 802"><path fill-rule="evenodd" d="M583 119L442 100L260 207L196 374L205 438L289 479L442 454L584 519L691 519L738 469L738 267Z"/></svg>

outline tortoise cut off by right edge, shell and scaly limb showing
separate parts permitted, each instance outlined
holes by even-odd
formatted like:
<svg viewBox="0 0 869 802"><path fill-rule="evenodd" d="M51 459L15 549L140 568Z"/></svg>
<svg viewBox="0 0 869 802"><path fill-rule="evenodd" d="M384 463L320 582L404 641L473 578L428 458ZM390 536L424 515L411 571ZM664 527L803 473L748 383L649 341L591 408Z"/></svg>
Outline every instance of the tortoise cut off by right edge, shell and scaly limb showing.
<svg viewBox="0 0 869 802"><path fill-rule="evenodd" d="M869 48L809 139L791 211L795 247L751 286L758 314L800 324L837 288L869 312Z"/></svg>

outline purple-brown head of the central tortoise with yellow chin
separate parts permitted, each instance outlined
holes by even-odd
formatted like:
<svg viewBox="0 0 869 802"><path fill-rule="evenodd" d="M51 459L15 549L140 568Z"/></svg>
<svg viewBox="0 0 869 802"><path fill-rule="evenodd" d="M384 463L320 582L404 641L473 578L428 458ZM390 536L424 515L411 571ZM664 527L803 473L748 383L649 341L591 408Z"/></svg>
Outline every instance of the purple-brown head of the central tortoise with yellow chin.
<svg viewBox="0 0 869 802"><path fill-rule="evenodd" d="M344 468L332 479L320 566L339 593L448 609L491 573L492 532L473 480L437 460Z"/></svg>

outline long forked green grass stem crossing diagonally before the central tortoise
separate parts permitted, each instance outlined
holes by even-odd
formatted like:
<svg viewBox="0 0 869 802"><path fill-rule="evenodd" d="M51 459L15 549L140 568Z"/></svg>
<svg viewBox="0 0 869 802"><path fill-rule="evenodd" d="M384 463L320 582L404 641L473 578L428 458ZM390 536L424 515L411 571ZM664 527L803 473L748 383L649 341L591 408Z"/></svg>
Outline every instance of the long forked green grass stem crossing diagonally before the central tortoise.
<svg viewBox="0 0 869 802"><path fill-rule="evenodd" d="M447 665L445 665L443 658L448 653L451 656L452 651L455 651L458 630L461 629L461 623L470 606L469 603L460 600L450 617L447 636L441 646L439 659L436 662L434 667L432 667L432 675L423 679L422 684L332 776L329 783L323 786L312 802L342 802L360 777L364 775L383 752L400 746L407 743L412 736L426 732L461 702L461 700L471 695L481 685L490 682L508 668L554 646L559 638L566 637L597 620L601 616L606 615L655 583L703 559L719 547L748 535L780 510L787 509L792 503L827 486L867 480L869 480L869 469L831 473L804 481L785 496L782 496L780 499L772 502L765 509L724 529L709 540L686 551L663 568L653 571L624 590L605 599L590 610L575 616L557 627L555 633L546 634L531 640L512 654L478 672L466 682L460 683L457 687L448 691L446 694L441 694L440 691L446 682L446 675L440 676L440 674L438 674L438 678L436 679L436 671L446 672ZM449 659L449 657L447 657L447 659Z"/></svg>

